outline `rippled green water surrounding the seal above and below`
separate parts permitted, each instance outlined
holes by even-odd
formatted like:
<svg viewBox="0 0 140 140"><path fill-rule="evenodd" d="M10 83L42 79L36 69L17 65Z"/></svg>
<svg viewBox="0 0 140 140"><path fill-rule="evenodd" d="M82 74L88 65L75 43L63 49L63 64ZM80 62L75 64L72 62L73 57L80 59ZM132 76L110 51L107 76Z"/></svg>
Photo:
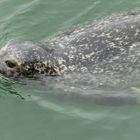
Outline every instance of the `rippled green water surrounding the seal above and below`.
<svg viewBox="0 0 140 140"><path fill-rule="evenodd" d="M0 45L42 42L73 25L139 7L139 0L1 0ZM0 140L139 139L139 104L102 106L54 92L61 91L39 81L0 81Z"/></svg>

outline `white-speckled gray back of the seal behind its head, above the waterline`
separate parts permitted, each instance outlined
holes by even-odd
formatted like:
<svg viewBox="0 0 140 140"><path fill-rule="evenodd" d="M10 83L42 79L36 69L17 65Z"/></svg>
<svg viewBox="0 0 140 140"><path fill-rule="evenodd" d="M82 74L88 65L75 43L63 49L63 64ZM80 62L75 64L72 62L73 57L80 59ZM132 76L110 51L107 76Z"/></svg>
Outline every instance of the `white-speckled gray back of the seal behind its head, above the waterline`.
<svg viewBox="0 0 140 140"><path fill-rule="evenodd" d="M140 15L89 23L48 41L68 71L93 74L140 72ZM66 66L66 67L65 67Z"/></svg>

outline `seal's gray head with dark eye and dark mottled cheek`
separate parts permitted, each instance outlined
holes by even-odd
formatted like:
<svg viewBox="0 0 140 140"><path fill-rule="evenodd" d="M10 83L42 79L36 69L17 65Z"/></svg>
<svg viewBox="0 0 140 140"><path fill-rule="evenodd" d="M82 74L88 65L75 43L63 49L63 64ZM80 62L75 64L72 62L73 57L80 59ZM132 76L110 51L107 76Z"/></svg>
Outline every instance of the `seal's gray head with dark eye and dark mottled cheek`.
<svg viewBox="0 0 140 140"><path fill-rule="evenodd" d="M53 50L30 42L9 44L0 50L0 73L6 77L58 75Z"/></svg>

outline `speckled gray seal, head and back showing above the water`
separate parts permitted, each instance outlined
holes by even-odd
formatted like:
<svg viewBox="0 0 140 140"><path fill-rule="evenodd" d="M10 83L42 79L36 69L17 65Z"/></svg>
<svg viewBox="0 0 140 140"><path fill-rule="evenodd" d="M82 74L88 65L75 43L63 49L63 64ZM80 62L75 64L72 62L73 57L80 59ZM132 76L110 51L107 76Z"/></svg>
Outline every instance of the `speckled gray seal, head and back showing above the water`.
<svg viewBox="0 0 140 140"><path fill-rule="evenodd" d="M52 37L45 45L25 42L1 48L0 73L7 77L140 74L140 14L90 22Z"/></svg>

